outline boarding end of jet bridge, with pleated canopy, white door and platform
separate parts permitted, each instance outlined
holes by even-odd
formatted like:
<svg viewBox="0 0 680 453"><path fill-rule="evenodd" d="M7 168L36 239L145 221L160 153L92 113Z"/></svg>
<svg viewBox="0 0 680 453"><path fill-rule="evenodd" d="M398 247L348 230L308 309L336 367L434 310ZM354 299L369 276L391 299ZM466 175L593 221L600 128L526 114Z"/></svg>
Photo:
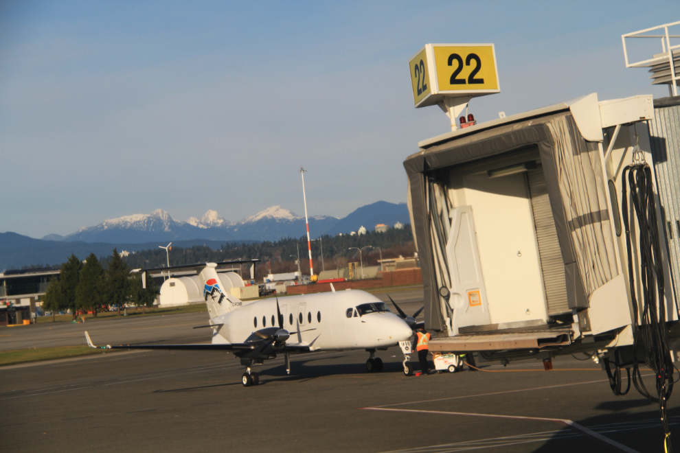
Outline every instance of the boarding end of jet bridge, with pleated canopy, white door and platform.
<svg viewBox="0 0 680 453"><path fill-rule="evenodd" d="M508 360L633 345L650 282L630 194L627 251L623 174L649 164L662 219L653 117L650 95L600 102L593 93L419 143L404 166L425 327L438 333L431 351ZM668 247L658 239L668 282L659 306L672 322Z"/></svg>

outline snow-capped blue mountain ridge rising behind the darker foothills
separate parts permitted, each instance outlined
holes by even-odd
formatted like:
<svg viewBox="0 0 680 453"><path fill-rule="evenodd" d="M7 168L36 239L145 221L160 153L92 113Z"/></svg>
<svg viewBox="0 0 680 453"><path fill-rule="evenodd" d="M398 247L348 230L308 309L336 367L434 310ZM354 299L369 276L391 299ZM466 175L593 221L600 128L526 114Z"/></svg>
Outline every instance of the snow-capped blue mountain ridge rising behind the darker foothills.
<svg viewBox="0 0 680 453"><path fill-rule="evenodd" d="M361 207L343 219L331 216L309 218L313 237L324 234L347 233L364 225L373 229L376 223L394 224L409 222L405 204L395 205L384 201ZM346 230L346 231L345 231ZM238 222L230 222L217 211L209 210L203 217L174 220L162 209L150 214L133 214L104 220L94 227L83 227L64 237L47 235L44 239L56 241L82 241L133 243L173 240L280 240L284 237L302 237L306 233L304 216L280 206L272 206Z"/></svg>

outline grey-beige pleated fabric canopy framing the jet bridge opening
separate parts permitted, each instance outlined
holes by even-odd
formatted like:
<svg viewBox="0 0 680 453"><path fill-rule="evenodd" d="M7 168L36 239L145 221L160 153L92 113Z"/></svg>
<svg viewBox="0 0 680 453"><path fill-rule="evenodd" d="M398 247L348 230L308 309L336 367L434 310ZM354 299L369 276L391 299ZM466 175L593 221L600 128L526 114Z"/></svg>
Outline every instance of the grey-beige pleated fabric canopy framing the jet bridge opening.
<svg viewBox="0 0 680 453"><path fill-rule="evenodd" d="M639 120L639 116L634 120ZM539 220L535 214L539 207L532 199L533 207L526 208L534 212L534 218L528 222L534 224L536 236L539 237L534 260L541 266L541 259L543 262L548 261L546 253L552 253L552 270L546 270L546 266L543 266L543 275L536 278L538 283L534 289L535 294L542 293L541 297L549 299L551 290L543 283L556 273L562 275L561 291L566 292L567 297L552 308L548 301L543 312L537 310L538 306L528 307L528 322L535 323L538 319L547 322L549 310L552 310L552 314L564 312L571 315L571 310L587 308L593 292L619 275L609 223L609 200L603 190L606 183L600 141L600 109L597 95L593 93L574 102L497 119L420 143L420 152L409 156L404 167L409 180L413 233L422 263L425 325L428 329L443 331L453 328L453 310L439 290L442 286L455 286L449 273L451 266L468 266L457 264L455 259L447 256L449 234L455 227L454 211L460 205L472 204L469 200L452 200L451 195L462 187L462 181L468 176L480 176L479 181L484 182L491 181L495 176L536 170L537 181L540 180L544 194L547 194L547 197L543 197L543 210L547 209L552 214L554 227L550 227L552 244L543 244L544 250L541 250L541 232L538 231ZM530 193L532 187L528 189L527 199L533 196ZM479 194L480 190L506 189L500 186L477 188L475 193ZM499 211L502 207L498 206ZM472 224L471 228L475 232L474 236L481 237L479 228L484 227L479 222L483 217L481 208L473 205L472 209L477 209L474 213L477 224ZM492 220L492 217L486 220ZM497 218L495 222L503 224L506 220ZM512 220L508 222L512 223ZM461 231L460 234L463 234L467 230ZM550 235L545 236L550 242ZM479 244L480 249L482 245ZM557 249L557 253L554 249ZM521 256L521 251L517 253ZM558 259L557 266L554 257ZM489 261L487 259L487 263ZM511 269L512 266L507 268ZM484 279L481 280L484 284ZM484 291L477 294L468 292L468 298L472 298L469 301L473 306L477 304L478 299L475 298L485 299L486 294ZM479 305L482 302L486 303L485 300L479 301ZM455 303L451 305L455 307ZM446 325L447 322L449 325Z"/></svg>

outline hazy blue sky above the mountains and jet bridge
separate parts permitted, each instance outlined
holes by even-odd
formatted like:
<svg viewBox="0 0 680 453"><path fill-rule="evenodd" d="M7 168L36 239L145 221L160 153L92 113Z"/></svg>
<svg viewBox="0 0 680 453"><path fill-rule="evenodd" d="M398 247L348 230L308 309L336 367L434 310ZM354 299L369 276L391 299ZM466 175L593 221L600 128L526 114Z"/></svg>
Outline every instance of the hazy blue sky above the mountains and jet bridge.
<svg viewBox="0 0 680 453"><path fill-rule="evenodd" d="M478 121L587 93L668 95L621 35L680 20L639 1L0 3L0 231L281 205L343 217L406 199L403 161L449 131L413 108L426 43L494 43ZM635 48L649 58L658 43Z"/></svg>

